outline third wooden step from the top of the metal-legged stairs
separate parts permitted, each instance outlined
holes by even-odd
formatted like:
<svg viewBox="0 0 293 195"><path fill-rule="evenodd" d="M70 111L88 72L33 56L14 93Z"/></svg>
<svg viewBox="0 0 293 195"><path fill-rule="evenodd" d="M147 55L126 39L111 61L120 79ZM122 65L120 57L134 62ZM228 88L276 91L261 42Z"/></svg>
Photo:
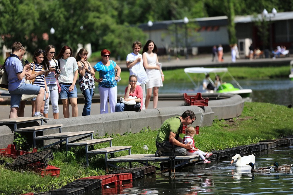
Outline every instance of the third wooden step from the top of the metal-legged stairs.
<svg viewBox="0 0 293 195"><path fill-rule="evenodd" d="M40 149L47 148L47 147L50 147L50 146L53 146L55 144L62 143L63 141L65 141L66 151L68 151L68 143L79 141L79 140L82 140L82 139L87 138L87 137L91 137L91 139L93 139L93 132L94 131L63 132L63 133L57 133L57 134L49 134L49 135L37 136L37 137L35 137L35 139L36 140L59 139L59 141L51 143L51 144L49 144L47 146L43 146ZM83 136L83 137L78 138L78 139L76 139L74 141L71 141L71 142L68 141L69 138L79 137L79 136Z"/></svg>

